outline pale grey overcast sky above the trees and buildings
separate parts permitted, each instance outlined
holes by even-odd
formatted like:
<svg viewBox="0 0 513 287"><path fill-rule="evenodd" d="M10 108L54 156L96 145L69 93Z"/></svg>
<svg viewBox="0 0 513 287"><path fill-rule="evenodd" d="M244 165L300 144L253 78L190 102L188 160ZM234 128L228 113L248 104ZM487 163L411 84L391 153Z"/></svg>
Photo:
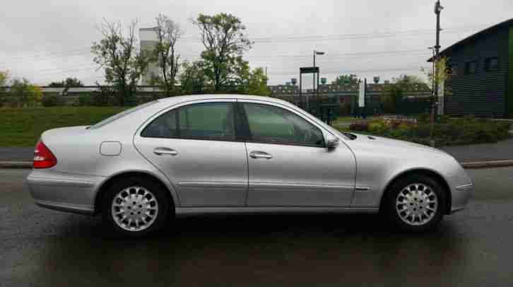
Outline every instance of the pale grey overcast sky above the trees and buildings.
<svg viewBox="0 0 513 287"><path fill-rule="evenodd" d="M250 66L267 67L270 83L297 78L300 66L317 66L328 81L338 74L383 80L418 74L435 42L434 0L16 0L0 11L0 70L45 85L68 76L86 84L103 81L90 45L100 40L102 19L138 28L155 25L163 13L185 30L179 45L184 59L202 50L191 18L228 12L247 26L253 49ZM442 49L478 30L511 18L511 0L442 0ZM309 78L307 78L309 77ZM305 76L311 86L311 76Z"/></svg>

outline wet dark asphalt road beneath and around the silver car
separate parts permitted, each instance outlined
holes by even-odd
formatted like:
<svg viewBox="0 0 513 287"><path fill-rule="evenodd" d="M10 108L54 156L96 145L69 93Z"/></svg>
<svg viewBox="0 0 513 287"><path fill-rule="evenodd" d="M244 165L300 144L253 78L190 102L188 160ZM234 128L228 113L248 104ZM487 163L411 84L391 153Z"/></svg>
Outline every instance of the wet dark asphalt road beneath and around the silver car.
<svg viewBox="0 0 513 287"><path fill-rule="evenodd" d="M182 218L155 238L106 238L100 218L40 209L0 170L0 286L512 286L513 168L469 170L466 211L435 232L378 216Z"/></svg>

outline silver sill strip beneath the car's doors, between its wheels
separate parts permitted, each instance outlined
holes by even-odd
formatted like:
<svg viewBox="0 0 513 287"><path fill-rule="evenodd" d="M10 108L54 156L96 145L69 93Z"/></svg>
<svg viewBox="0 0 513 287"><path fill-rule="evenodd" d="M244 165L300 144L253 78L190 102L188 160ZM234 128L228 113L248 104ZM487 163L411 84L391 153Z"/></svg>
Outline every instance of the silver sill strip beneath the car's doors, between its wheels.
<svg viewBox="0 0 513 287"><path fill-rule="evenodd" d="M177 207L177 216L230 213L377 213L379 207Z"/></svg>

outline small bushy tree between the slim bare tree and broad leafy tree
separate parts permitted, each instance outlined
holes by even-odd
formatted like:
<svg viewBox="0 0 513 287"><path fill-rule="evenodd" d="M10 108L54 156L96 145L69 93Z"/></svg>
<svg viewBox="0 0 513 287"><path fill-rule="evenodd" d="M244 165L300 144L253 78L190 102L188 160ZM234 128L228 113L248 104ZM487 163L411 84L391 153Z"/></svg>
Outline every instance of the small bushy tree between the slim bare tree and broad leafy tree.
<svg viewBox="0 0 513 287"><path fill-rule="evenodd" d="M206 92L208 78L204 70L204 61L184 61L182 74L179 76L182 93L197 95Z"/></svg>

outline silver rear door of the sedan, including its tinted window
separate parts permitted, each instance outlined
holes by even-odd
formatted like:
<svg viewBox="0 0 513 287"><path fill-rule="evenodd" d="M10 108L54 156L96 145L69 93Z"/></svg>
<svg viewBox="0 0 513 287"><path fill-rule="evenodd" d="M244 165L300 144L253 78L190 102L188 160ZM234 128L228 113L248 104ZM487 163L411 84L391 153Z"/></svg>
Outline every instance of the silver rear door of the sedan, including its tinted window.
<svg viewBox="0 0 513 287"><path fill-rule="evenodd" d="M235 100L194 102L163 112L135 145L169 178L181 206L244 206L247 157L235 132Z"/></svg>

